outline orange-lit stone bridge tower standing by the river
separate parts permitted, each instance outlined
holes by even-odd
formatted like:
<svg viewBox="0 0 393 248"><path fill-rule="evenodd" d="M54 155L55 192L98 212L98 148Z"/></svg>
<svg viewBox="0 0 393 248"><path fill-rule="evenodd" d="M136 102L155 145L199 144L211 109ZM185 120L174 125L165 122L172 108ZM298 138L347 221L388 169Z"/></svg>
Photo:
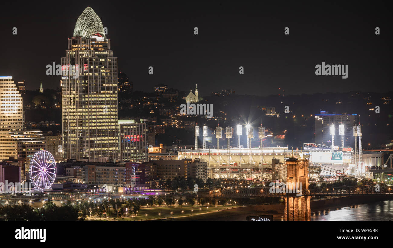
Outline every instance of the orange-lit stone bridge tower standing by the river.
<svg viewBox="0 0 393 248"><path fill-rule="evenodd" d="M287 221L311 216L309 189L309 160L291 157L286 161L286 187L294 193L286 193L284 215ZM301 187L301 188L300 188ZM296 193L296 190L298 193ZM303 191L302 191L303 190Z"/></svg>

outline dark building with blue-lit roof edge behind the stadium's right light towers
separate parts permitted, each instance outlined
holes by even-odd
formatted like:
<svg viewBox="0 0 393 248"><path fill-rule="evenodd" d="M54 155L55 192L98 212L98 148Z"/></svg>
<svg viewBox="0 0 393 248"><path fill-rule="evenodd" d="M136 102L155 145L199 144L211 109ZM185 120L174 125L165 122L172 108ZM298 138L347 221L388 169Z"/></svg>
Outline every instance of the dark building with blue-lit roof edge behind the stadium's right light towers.
<svg viewBox="0 0 393 248"><path fill-rule="evenodd" d="M315 115L315 143L331 146L332 135L329 132L329 128L331 124L335 124L335 145L341 146L341 136L338 135L338 126L339 124L344 124L344 146L352 147L354 145L352 126L355 116L356 114L329 114L327 111L321 111L319 115Z"/></svg>

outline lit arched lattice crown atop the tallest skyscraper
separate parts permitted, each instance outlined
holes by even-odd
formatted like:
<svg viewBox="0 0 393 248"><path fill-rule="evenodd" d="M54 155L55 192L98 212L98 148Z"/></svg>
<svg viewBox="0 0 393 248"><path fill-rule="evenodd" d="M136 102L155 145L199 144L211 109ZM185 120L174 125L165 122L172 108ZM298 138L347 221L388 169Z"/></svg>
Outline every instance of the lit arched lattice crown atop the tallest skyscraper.
<svg viewBox="0 0 393 248"><path fill-rule="evenodd" d="M105 37L101 19L92 8L87 7L76 21L73 37L87 38L97 33Z"/></svg>

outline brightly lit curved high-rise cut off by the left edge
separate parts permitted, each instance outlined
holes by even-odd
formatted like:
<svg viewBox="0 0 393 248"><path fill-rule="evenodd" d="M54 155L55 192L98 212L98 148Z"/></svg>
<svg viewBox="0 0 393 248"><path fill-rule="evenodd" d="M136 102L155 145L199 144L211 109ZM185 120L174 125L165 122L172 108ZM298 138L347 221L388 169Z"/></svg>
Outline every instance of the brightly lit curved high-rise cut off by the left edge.
<svg viewBox="0 0 393 248"><path fill-rule="evenodd" d="M23 128L22 97L12 76L0 77L0 160L17 159L17 144L9 131Z"/></svg>

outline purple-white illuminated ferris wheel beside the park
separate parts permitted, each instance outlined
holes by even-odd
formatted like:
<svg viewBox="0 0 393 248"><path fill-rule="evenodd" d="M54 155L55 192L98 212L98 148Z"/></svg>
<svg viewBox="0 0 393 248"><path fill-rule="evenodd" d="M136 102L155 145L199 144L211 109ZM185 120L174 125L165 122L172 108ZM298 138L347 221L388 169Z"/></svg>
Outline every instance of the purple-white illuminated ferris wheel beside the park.
<svg viewBox="0 0 393 248"><path fill-rule="evenodd" d="M30 180L36 190L49 190L56 177L56 162L49 151L38 151L30 161Z"/></svg>

